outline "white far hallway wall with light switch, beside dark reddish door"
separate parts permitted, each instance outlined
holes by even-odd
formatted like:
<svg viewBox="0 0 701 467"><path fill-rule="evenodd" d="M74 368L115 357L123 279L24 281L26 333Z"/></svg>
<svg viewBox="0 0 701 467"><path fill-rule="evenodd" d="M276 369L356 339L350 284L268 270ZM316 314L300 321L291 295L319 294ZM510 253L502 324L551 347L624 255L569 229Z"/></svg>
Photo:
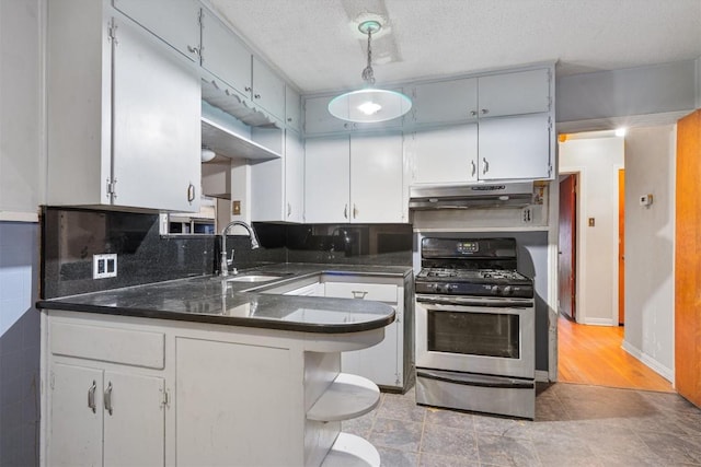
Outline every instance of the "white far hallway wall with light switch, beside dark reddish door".
<svg viewBox="0 0 701 467"><path fill-rule="evenodd" d="M618 170L623 138L561 142L560 173L579 173L577 202L578 323L618 324ZM588 226L593 218L595 225Z"/></svg>

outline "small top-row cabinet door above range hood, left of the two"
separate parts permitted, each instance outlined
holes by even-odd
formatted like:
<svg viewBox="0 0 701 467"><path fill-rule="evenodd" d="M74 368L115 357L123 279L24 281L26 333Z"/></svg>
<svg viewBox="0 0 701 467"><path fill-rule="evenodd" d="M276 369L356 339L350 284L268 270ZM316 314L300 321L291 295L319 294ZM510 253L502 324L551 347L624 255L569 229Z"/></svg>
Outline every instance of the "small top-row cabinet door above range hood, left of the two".
<svg viewBox="0 0 701 467"><path fill-rule="evenodd" d="M412 117L415 124L475 120L478 80L418 84L412 90Z"/></svg>

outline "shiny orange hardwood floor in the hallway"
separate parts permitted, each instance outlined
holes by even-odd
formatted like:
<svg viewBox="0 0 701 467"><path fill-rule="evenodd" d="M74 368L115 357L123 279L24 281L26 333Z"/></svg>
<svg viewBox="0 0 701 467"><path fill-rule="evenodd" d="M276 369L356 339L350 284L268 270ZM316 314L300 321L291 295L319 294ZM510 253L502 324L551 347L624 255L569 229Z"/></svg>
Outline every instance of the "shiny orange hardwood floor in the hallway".
<svg viewBox="0 0 701 467"><path fill-rule="evenodd" d="M671 384L621 348L623 328L558 318L558 380L562 383L674 393Z"/></svg>

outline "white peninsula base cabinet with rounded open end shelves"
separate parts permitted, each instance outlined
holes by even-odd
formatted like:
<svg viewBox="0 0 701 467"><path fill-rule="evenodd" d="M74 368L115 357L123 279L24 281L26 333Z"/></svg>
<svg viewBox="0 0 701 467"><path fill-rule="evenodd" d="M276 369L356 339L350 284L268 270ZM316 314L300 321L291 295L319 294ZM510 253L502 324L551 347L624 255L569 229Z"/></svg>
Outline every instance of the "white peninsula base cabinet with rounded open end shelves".
<svg viewBox="0 0 701 467"><path fill-rule="evenodd" d="M347 334L43 311L42 466L379 466L343 420L380 392ZM348 464L348 462L352 462Z"/></svg>

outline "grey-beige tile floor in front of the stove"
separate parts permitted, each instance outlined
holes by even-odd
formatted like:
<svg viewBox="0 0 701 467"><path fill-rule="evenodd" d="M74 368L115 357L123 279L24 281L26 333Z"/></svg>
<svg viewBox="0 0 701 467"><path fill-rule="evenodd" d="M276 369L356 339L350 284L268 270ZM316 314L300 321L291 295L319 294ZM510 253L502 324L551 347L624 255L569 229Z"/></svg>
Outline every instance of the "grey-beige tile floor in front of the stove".
<svg viewBox="0 0 701 467"><path fill-rule="evenodd" d="M343 430L383 467L701 466L701 410L670 393L541 385L529 421L417 406L411 389Z"/></svg>

